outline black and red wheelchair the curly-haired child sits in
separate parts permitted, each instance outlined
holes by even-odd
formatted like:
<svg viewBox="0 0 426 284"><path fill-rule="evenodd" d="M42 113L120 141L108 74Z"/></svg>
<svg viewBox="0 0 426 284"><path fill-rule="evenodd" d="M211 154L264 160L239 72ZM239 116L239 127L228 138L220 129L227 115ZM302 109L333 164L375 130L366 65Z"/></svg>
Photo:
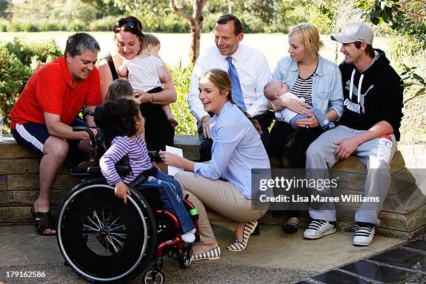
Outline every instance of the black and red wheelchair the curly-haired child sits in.
<svg viewBox="0 0 426 284"><path fill-rule="evenodd" d="M95 116L84 111L84 118L87 113ZM64 264L92 283L125 283L141 273L145 284L164 283L164 255L177 256L181 268L189 267L192 244L182 241L180 222L162 208L157 189L130 187L125 205L100 171L99 158L105 150L100 135L95 137L90 127L73 127L73 131L87 132L92 146L89 160L71 169L71 176L81 182L63 200L56 218ZM129 171L127 165L116 169L122 177ZM187 197L183 201L199 239L196 208Z"/></svg>

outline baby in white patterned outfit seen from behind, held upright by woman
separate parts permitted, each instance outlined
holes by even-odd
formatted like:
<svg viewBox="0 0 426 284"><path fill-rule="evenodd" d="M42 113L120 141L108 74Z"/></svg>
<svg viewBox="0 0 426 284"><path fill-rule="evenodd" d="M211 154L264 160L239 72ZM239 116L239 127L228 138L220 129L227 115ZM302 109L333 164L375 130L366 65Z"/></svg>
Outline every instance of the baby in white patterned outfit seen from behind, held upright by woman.
<svg viewBox="0 0 426 284"><path fill-rule="evenodd" d="M171 80L171 74L168 72L161 58L158 56L160 42L156 36L145 33L141 44L141 52L134 58L123 59L123 64L118 68L118 74L126 77L134 90L143 90L151 94L151 102L155 101L154 93L163 90L164 85ZM162 106L164 113L172 127L178 125L178 121L173 118L170 104Z"/></svg>

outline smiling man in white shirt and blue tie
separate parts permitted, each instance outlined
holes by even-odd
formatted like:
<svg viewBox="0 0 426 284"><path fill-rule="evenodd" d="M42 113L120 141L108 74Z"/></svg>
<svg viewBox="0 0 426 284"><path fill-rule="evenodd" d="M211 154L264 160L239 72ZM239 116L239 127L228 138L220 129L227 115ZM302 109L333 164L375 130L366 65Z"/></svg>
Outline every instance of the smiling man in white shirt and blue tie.
<svg viewBox="0 0 426 284"><path fill-rule="evenodd" d="M216 47L210 47L200 54L189 86L188 103L191 113L198 123L200 139L200 161L212 158L212 139L210 136L210 118L198 98L198 82L203 73L213 68L228 72L232 83L232 98L251 117L258 120L262 127L262 143L269 150L268 127L274 119L274 113L268 111L267 98L263 87L271 80L271 71L265 55L256 49L242 45L243 26L235 15L225 14L214 24Z"/></svg>

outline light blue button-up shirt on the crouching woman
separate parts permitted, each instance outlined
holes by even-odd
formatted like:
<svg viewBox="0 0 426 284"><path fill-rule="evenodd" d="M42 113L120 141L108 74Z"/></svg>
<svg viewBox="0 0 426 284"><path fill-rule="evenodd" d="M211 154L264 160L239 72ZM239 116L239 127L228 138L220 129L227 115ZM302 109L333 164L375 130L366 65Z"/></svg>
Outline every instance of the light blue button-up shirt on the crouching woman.
<svg viewBox="0 0 426 284"><path fill-rule="evenodd" d="M226 102L219 116L210 120L210 134L213 139L212 161L209 164L196 163L195 175L230 182L251 199L251 169L271 168L255 127L235 104Z"/></svg>

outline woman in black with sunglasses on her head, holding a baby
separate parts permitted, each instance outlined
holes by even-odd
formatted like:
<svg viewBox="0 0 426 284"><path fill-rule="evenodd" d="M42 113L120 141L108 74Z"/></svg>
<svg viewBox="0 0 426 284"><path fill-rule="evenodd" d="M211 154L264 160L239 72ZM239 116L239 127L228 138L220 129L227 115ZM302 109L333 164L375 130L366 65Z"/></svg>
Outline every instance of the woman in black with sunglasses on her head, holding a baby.
<svg viewBox="0 0 426 284"><path fill-rule="evenodd" d="M113 24L112 30L117 44L117 53L104 56L97 67L100 73L103 97L107 95L109 85L120 78L118 68L123 65L123 60L130 60L139 54L144 36L142 29L142 23L139 19L132 16L118 19ZM173 145L175 131L161 109L162 105L176 101L173 79L164 82L164 90L159 93L152 95L142 90L136 90L135 93L139 95L141 113L145 118L145 142L148 150L164 150L165 145Z"/></svg>

